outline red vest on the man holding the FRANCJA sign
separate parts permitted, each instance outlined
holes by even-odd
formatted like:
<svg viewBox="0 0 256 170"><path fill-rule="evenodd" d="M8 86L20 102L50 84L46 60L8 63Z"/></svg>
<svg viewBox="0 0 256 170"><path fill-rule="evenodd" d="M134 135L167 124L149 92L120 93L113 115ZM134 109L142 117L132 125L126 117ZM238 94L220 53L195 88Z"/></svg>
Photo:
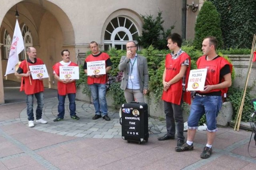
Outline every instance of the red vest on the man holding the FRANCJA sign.
<svg viewBox="0 0 256 170"><path fill-rule="evenodd" d="M28 66L44 64L44 62L39 58L36 58L35 63L29 63L29 62L26 62L26 60L23 60L19 66L23 70L23 73L27 73L29 71L28 70L29 67L27 66L27 63L28 63ZM30 80L31 80L31 85L30 85ZM20 91L24 90L26 95L32 95L32 94L44 91L43 81L39 79L33 80L31 75L30 75L30 80L29 80L29 77L21 77Z"/></svg>

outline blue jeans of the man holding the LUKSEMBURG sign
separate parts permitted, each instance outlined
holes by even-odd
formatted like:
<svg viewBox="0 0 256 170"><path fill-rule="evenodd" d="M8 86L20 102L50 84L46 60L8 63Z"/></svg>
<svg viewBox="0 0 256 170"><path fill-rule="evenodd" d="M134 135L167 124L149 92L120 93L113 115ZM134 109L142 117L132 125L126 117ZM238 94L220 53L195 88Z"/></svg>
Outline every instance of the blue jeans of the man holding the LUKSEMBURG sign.
<svg viewBox="0 0 256 170"><path fill-rule="evenodd" d="M106 84L94 83L89 85L91 89L95 114L102 117L108 115L108 105L106 101Z"/></svg>

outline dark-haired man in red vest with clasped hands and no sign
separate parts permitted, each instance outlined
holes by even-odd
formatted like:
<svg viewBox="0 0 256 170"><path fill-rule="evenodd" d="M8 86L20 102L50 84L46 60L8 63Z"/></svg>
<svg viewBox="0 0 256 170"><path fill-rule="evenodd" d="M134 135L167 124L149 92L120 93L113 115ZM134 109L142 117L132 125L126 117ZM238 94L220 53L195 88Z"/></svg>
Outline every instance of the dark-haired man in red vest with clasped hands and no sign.
<svg viewBox="0 0 256 170"><path fill-rule="evenodd" d="M181 49L182 38L179 34L173 33L166 40L167 47L172 51L166 55L162 82L167 134L158 140L174 139L177 128L177 146L181 146L185 139L182 103L191 103L190 92L186 91L191 61L189 55Z"/></svg>

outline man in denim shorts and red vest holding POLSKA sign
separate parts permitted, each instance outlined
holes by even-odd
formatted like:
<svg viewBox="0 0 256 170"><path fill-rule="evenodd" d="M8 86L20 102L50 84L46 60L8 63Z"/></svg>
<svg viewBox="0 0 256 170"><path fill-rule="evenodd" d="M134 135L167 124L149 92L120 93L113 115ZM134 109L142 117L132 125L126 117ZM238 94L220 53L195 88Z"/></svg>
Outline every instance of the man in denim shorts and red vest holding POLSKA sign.
<svg viewBox="0 0 256 170"><path fill-rule="evenodd" d="M212 154L212 143L217 132L216 118L222 106L223 91L231 86L232 65L216 53L218 42L215 37L206 37L202 43L204 53L196 64L198 69L207 68L203 91L196 91L188 117L188 137L186 143L175 148L176 152L193 150L193 140L200 118L205 114L207 123L207 144L201 158L209 158Z"/></svg>

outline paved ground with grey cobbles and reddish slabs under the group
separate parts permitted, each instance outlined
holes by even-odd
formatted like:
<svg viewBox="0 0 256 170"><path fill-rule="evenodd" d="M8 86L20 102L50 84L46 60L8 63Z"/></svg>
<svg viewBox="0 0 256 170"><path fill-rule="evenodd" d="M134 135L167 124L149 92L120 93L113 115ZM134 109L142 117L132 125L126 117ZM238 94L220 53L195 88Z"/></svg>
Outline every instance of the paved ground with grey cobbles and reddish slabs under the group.
<svg viewBox="0 0 256 170"><path fill-rule="evenodd" d="M26 103L0 105L0 170L254 170L255 142L252 132L218 127L213 154L201 159L206 131L197 131L194 150L175 152L176 140L158 141L166 133L165 122L149 118L148 142L122 140L119 113L109 108L111 121L92 120L94 106L76 101L79 120L70 118L68 101L64 121L57 116L56 97L44 100L43 119L47 124L28 127ZM36 103L34 105L36 109ZM184 132L186 137L186 132Z"/></svg>

